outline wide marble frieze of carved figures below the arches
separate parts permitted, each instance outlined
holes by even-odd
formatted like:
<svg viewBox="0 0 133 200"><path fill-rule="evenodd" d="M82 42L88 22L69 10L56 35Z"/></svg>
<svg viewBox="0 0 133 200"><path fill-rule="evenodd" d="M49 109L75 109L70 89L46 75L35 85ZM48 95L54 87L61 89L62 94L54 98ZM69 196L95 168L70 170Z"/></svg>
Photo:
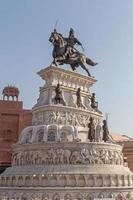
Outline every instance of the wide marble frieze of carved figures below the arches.
<svg viewBox="0 0 133 200"><path fill-rule="evenodd" d="M112 164L123 165L121 152L106 149L53 149L19 151L13 154L13 165Z"/></svg>

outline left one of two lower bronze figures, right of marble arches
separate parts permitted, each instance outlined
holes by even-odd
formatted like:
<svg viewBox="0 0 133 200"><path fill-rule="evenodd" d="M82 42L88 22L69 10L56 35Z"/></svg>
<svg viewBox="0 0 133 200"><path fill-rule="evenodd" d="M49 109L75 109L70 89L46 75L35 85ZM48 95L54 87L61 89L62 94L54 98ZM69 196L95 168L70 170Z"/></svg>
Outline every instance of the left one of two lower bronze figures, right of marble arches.
<svg viewBox="0 0 133 200"><path fill-rule="evenodd" d="M88 124L89 132L88 132L88 139L90 142L95 141L95 125L94 125L94 119L90 117L90 122Z"/></svg>

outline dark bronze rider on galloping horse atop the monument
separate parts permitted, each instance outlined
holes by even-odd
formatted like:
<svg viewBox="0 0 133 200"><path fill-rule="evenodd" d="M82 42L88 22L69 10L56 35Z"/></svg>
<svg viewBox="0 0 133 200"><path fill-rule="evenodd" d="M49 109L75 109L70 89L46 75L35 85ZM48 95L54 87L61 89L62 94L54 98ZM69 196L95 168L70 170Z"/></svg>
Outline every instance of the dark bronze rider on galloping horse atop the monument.
<svg viewBox="0 0 133 200"><path fill-rule="evenodd" d="M54 59L52 64L70 64L73 71L77 67L81 66L82 69L87 72L88 76L91 76L85 64L95 66L97 63L80 53L74 47L76 43L79 45L82 44L77 40L77 38L74 37L73 29L70 29L69 38L64 38L62 34L58 33L56 29L54 29L54 32L52 32L51 36L49 37L49 41L54 46L52 53Z"/></svg>

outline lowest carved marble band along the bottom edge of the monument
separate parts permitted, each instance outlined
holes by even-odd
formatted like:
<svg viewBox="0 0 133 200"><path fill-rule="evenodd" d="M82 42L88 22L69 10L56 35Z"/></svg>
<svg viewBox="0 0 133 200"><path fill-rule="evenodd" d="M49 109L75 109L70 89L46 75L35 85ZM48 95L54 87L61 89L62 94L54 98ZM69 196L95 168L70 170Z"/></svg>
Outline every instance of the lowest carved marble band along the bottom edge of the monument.
<svg viewBox="0 0 133 200"><path fill-rule="evenodd" d="M6 193L0 193L0 200L2 199L13 199L13 200L72 200L72 199L77 199L77 200L93 200L94 198L99 198L99 199L103 199L103 198L112 198L112 199L116 199L116 200L132 200L132 193L128 192L126 195L122 195L121 193L117 193L114 194L113 192L108 193L108 194L104 194L99 192L97 195L93 192L89 192L89 193L76 193L76 194L70 194L70 193L66 193L66 194L58 194L56 193L51 193L50 197L47 193L38 193L37 195L35 195L35 193L30 193L30 192L25 192L22 194L17 194L15 192L13 192L12 194L9 194L8 192Z"/></svg>

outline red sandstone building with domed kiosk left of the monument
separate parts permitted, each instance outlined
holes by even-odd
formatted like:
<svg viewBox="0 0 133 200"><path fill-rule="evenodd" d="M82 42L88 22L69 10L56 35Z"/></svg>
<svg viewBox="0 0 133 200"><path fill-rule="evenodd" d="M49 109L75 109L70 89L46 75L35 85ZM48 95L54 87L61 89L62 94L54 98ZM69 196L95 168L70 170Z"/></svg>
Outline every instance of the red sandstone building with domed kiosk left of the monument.
<svg viewBox="0 0 133 200"><path fill-rule="evenodd" d="M31 110L23 109L18 96L18 88L8 86L3 89L3 100L0 100L0 171L10 166L11 146L21 130L31 124Z"/></svg>

